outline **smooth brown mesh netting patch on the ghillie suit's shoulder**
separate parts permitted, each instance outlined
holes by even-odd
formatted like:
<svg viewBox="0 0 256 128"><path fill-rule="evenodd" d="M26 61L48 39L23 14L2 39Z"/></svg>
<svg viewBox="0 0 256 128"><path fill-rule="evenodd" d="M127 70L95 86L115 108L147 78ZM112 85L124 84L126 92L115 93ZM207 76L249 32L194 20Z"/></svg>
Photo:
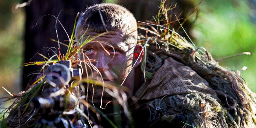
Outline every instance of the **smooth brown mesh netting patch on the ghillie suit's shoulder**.
<svg viewBox="0 0 256 128"><path fill-rule="evenodd" d="M203 93L216 99L216 93L208 82L200 77L189 66L174 60L172 57L164 60L163 65L154 74L148 91L142 99L153 99L165 95Z"/></svg>

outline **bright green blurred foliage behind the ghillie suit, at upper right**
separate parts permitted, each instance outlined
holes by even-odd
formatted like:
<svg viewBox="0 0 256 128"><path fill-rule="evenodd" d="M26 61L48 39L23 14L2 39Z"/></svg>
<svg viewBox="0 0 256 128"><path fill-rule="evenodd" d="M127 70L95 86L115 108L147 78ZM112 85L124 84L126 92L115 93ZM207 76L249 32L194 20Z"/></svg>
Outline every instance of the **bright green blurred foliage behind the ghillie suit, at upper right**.
<svg viewBox="0 0 256 128"><path fill-rule="evenodd" d="M255 9L249 1L243 0L204 0L199 5L199 13L191 32L197 46L208 49L215 59L242 52L253 55L242 55L223 60L220 65L239 70L247 66L242 77L249 88L256 92L256 24ZM252 5L252 7L255 5ZM190 20L194 20L193 16Z"/></svg>

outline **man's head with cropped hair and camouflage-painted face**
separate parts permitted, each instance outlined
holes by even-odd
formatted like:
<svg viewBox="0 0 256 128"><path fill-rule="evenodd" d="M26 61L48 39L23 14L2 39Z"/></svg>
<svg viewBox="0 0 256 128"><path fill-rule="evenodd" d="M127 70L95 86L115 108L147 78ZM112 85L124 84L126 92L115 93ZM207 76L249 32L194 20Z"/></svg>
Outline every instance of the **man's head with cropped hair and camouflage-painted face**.
<svg viewBox="0 0 256 128"><path fill-rule="evenodd" d="M80 59L90 59L91 64L97 68L95 71L90 71L94 67L84 66L83 77L92 75L89 78L100 80L105 84L125 86L129 88L127 94L132 95L135 83L140 84L135 80L135 68L139 66L143 55L142 46L137 45L137 22L132 13L117 4L96 4L80 15L75 32L78 44L104 32L105 34L88 42L82 49ZM98 78L99 76L101 77ZM94 86L94 92L93 88L89 90L91 94L89 97L93 96L94 99L91 103L98 108L100 106L97 106L97 100L100 101L102 97L100 89L102 88ZM111 100L109 95L104 94L105 104ZM113 115L111 105L102 111L106 115ZM111 117L113 118L113 116L109 118Z"/></svg>

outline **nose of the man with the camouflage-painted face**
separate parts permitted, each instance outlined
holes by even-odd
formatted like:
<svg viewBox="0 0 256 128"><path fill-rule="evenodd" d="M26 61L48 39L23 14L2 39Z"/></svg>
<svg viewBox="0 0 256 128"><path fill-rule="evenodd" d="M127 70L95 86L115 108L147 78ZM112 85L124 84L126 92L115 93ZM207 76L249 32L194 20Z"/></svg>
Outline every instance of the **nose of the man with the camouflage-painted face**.
<svg viewBox="0 0 256 128"><path fill-rule="evenodd" d="M95 67L99 70L100 73L104 73L104 71L108 70L108 57L104 55L104 53L99 54L96 58Z"/></svg>

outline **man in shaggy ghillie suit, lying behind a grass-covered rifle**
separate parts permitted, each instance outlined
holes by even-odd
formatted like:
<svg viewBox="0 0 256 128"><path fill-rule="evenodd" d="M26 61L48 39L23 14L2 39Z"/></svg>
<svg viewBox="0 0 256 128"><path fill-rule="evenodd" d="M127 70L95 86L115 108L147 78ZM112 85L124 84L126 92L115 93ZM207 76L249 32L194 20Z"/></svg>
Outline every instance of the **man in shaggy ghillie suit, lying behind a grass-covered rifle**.
<svg viewBox="0 0 256 128"><path fill-rule="evenodd" d="M144 82L143 72L146 71L140 70L143 47L137 44L136 20L128 10L117 4L89 7L77 22L76 40L81 44L95 36L84 45L80 59L92 60L91 64L97 69L89 71L90 68L84 66L83 77L102 76L102 82L106 84L129 88L128 96L135 97L135 102L129 106L135 126L255 126L254 107L243 90L243 80L218 66L210 55L209 62L201 64L195 57L190 57L195 51L193 46L177 51L168 45L172 39L169 38L166 39L168 43L159 42L161 48L156 49L155 40L150 40L151 49L144 59L146 71L154 76ZM150 62L156 68L150 67ZM91 94L95 97L102 96L97 94L100 91L94 92ZM104 98L108 99L108 96L103 95ZM121 123L129 126L124 121ZM102 125L105 124L102 122Z"/></svg>

